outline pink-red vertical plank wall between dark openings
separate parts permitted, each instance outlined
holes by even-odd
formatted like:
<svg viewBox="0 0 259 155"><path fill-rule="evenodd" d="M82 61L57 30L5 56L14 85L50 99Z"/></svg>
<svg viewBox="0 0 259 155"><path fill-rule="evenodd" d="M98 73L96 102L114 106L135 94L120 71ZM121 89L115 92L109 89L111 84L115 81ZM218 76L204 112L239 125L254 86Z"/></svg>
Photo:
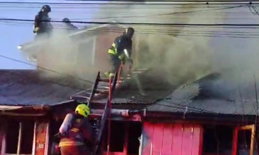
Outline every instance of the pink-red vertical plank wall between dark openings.
<svg viewBox="0 0 259 155"><path fill-rule="evenodd" d="M197 124L145 122L142 155L201 155L202 135Z"/></svg>

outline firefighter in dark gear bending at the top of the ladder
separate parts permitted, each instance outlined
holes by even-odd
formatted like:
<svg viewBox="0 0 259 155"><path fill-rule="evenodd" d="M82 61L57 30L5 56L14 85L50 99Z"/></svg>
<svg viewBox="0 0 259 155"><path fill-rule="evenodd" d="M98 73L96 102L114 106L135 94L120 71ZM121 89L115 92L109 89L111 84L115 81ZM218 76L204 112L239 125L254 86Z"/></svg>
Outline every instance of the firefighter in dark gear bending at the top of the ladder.
<svg viewBox="0 0 259 155"><path fill-rule="evenodd" d="M133 34L134 28L129 27L125 29L123 35L118 36L114 40L111 48L108 50L111 70L104 73L106 77L114 76L114 73L118 72L121 62L125 64L127 61L131 63L131 65L133 64L130 58Z"/></svg>

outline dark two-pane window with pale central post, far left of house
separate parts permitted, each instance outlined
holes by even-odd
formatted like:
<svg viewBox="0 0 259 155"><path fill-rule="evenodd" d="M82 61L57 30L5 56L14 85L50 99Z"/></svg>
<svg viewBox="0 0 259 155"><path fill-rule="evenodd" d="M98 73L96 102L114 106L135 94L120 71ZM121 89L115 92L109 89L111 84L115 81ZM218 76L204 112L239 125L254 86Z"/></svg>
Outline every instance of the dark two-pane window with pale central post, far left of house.
<svg viewBox="0 0 259 155"><path fill-rule="evenodd" d="M32 154L34 122L10 121L6 130L6 154Z"/></svg>

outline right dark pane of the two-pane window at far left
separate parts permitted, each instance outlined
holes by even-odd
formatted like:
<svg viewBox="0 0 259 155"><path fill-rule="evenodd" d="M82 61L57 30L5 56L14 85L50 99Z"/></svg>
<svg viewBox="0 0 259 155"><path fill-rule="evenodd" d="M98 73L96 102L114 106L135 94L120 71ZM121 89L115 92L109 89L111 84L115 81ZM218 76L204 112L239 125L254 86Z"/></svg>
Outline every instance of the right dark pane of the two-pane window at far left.
<svg viewBox="0 0 259 155"><path fill-rule="evenodd" d="M22 122L22 141L20 154L31 154L34 136L34 122Z"/></svg>

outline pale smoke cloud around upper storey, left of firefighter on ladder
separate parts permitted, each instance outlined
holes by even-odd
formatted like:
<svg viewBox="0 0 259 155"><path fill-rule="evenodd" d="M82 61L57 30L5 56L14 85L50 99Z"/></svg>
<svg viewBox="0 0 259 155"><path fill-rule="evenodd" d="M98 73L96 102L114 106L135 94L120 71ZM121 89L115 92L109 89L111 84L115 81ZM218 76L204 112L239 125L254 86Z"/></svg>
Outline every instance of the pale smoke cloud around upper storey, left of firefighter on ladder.
<svg viewBox="0 0 259 155"><path fill-rule="evenodd" d="M71 31L71 30L70 30ZM49 38L37 38L25 54L36 56L40 77L61 84L91 86L84 80L94 81L97 71L93 68L91 57L93 41L89 38L72 38L68 29L54 28ZM85 87L87 88L87 87Z"/></svg>

